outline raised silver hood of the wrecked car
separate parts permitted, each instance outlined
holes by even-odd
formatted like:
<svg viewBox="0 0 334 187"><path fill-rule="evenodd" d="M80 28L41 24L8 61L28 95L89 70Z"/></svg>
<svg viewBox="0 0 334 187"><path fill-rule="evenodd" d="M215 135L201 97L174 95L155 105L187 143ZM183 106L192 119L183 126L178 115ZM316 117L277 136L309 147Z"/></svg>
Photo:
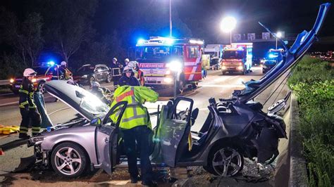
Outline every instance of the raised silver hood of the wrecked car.
<svg viewBox="0 0 334 187"><path fill-rule="evenodd" d="M94 117L103 118L109 110L108 105L80 86L68 84L63 80L52 80L44 85L48 93L66 103L89 121Z"/></svg>

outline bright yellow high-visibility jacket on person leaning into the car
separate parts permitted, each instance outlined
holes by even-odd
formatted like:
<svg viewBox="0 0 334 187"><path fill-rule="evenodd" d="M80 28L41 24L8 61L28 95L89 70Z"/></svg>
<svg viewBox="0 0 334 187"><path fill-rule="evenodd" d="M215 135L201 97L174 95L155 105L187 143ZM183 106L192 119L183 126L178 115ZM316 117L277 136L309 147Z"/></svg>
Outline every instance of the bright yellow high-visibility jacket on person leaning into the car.
<svg viewBox="0 0 334 187"><path fill-rule="evenodd" d="M113 105L120 101L128 101L128 106L125 108L122 119L120 120L120 129L132 129L133 127L147 125L151 129L151 122L149 120L149 113L144 107L145 101L156 102L159 94L144 86L120 86L113 93ZM116 122L119 112L114 112L111 119Z"/></svg>

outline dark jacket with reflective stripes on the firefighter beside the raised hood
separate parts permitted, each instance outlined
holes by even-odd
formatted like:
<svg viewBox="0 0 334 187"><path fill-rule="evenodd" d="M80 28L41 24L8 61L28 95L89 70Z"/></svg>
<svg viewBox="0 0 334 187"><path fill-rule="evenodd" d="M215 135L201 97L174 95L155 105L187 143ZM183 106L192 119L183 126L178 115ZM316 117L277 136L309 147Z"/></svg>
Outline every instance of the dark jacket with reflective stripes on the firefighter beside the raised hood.
<svg viewBox="0 0 334 187"><path fill-rule="evenodd" d="M33 98L34 90L35 88L32 82L26 77L23 77L20 89L18 90L20 96L18 103L20 108L36 108Z"/></svg>

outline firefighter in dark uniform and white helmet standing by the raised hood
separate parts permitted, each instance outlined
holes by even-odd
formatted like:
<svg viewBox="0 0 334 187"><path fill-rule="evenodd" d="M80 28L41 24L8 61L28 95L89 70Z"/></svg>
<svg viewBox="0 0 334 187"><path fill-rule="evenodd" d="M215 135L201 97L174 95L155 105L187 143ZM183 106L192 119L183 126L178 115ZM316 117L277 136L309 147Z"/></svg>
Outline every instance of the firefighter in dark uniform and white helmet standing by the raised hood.
<svg viewBox="0 0 334 187"><path fill-rule="evenodd" d="M37 72L31 68L25 69L23 72L23 80L20 86L19 96L19 108L22 116L22 121L20 124L20 134L19 138L29 138L27 135L28 127L30 121L32 122L32 136L39 133L41 127L41 116L37 112L36 105L34 103L34 85L32 84L32 79L34 79Z"/></svg>

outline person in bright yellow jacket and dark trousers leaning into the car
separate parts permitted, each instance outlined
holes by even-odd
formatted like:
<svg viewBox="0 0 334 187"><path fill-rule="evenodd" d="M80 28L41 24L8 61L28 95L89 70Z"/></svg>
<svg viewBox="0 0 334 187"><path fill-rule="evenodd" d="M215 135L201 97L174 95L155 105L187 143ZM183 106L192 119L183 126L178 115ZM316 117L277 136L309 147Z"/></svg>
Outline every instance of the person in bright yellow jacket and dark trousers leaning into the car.
<svg viewBox="0 0 334 187"><path fill-rule="evenodd" d="M149 113L144 102L156 102L159 94L144 86L120 86L114 93L111 107L120 101L128 101L122 119L120 130L123 133L124 146L128 157L128 172L131 183L137 183L137 151L136 142L140 148L140 170L142 172L142 185L152 186L152 167L149 160L152 127ZM113 122L117 121L118 112L111 115Z"/></svg>

